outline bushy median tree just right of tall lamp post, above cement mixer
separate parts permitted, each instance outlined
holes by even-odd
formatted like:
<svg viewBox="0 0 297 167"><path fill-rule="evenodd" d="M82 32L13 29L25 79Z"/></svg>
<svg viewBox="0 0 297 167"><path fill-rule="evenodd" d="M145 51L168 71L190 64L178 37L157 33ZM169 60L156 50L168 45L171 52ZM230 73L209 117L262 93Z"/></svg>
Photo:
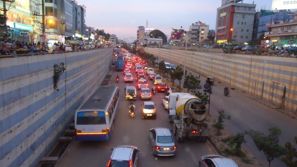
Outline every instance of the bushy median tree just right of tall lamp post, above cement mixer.
<svg viewBox="0 0 297 167"><path fill-rule="evenodd" d="M199 77L196 77L192 75L192 73L189 73L185 76L185 81L183 87L187 89L187 93L190 91L195 91L196 89L201 89L202 86L200 85L200 75Z"/></svg>

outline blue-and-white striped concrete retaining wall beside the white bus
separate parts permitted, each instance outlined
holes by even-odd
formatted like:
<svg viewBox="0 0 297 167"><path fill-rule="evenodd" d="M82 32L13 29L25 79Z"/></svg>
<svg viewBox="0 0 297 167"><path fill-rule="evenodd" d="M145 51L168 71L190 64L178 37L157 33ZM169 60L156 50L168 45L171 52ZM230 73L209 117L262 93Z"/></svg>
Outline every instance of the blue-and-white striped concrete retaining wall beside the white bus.
<svg viewBox="0 0 297 167"><path fill-rule="evenodd" d="M36 166L97 89L110 48L0 59L0 166ZM66 71L53 89L53 66Z"/></svg>

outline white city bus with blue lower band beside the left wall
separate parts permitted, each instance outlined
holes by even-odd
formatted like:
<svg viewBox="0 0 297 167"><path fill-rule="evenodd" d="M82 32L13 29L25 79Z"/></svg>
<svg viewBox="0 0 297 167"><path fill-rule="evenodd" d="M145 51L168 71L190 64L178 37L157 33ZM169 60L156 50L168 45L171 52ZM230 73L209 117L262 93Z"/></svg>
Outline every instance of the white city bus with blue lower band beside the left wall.
<svg viewBox="0 0 297 167"><path fill-rule="evenodd" d="M100 86L75 112L75 140L109 140L119 105L119 87Z"/></svg>

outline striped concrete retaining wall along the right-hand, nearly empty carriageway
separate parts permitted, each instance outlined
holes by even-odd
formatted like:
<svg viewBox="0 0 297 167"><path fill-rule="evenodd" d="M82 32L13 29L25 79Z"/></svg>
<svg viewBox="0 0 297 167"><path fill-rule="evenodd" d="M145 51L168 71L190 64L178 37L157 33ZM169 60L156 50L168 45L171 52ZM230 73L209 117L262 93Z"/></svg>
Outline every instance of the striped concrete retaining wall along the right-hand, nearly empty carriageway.
<svg viewBox="0 0 297 167"><path fill-rule="evenodd" d="M159 55L158 48L148 51L154 56ZM161 48L160 57L184 65L185 51ZM186 62L186 68L190 70L214 76L216 81L229 83L280 108L286 86L284 108L297 111L296 58L187 51Z"/></svg>

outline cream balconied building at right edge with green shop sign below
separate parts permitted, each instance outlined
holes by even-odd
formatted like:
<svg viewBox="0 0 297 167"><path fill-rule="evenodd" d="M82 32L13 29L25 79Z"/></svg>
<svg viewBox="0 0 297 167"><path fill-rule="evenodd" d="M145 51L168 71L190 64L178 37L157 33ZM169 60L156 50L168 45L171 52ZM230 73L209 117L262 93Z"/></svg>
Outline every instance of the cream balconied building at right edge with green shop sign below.
<svg viewBox="0 0 297 167"><path fill-rule="evenodd" d="M277 42L280 45L297 44L297 12L294 14L294 19L288 22L272 22L267 27L270 29L269 38L271 42Z"/></svg>

